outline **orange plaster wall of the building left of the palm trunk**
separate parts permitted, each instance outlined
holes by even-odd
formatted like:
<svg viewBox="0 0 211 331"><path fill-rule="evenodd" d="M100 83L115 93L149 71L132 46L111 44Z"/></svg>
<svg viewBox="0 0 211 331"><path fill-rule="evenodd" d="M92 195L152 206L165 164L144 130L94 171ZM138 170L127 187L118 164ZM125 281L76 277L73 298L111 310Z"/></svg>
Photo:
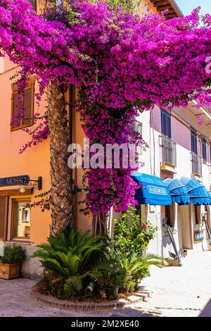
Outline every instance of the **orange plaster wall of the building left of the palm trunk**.
<svg viewBox="0 0 211 331"><path fill-rule="evenodd" d="M32 202L36 201L34 195L48 191L50 185L50 163L49 163L49 139L37 146L32 146L23 154L19 154L20 148L28 141L30 135L27 135L23 130L15 130L11 132L11 84L14 82L10 77L15 74L16 68L13 63L4 59L4 73L0 75L0 177L12 177L18 175L30 175L30 179L37 180L39 176L43 178L43 187L41 191L34 189L30 197ZM44 114L46 110L45 98L42 98L40 106L34 100L34 113ZM32 127L29 127L32 128ZM17 187L1 187L1 191L5 189L17 189ZM20 196L17 196L20 197ZM31 242L39 243L46 240L49 235L49 224L51 221L49 211L41 213L40 208L32 208L31 222Z"/></svg>

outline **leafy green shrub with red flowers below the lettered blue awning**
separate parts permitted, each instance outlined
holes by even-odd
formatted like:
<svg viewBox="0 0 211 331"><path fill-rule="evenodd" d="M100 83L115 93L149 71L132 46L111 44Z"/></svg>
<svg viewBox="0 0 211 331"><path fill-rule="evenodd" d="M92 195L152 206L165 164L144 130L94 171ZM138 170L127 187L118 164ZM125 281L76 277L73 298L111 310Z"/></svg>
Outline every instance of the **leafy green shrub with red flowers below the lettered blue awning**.
<svg viewBox="0 0 211 331"><path fill-rule="evenodd" d="M157 227L148 222L144 216L142 218L137 216L135 208L131 207L115 220L113 241L117 249L129 254L136 251L137 256L141 256L156 230Z"/></svg>

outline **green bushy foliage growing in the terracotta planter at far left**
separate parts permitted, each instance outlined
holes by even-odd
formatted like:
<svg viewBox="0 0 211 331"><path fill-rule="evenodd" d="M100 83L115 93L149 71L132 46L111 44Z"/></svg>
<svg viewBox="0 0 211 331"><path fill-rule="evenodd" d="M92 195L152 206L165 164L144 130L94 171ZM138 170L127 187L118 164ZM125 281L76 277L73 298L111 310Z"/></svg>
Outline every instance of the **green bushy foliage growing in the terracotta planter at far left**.
<svg viewBox="0 0 211 331"><path fill-rule="evenodd" d="M22 263L26 258L26 251L20 245L11 245L4 247L4 256L0 257L0 263Z"/></svg>

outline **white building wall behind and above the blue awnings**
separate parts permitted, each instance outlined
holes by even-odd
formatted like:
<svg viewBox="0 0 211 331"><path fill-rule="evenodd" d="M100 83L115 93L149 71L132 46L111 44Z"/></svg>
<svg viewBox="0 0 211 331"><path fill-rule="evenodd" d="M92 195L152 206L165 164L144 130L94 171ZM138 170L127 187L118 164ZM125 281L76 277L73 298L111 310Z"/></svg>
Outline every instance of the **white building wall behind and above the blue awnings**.
<svg viewBox="0 0 211 331"><path fill-rule="evenodd" d="M196 110L195 110L196 111ZM210 116L211 118L211 116ZM139 169L141 173L147 173L158 177L172 177L180 180L181 177L191 177L191 129L198 132L198 154L201 156L201 141L200 135L207 138L207 141L211 142L210 127L207 125L207 118L203 125L198 125L198 114L193 113L193 109L175 108L172 111L172 140L177 143L177 167L167 168L166 171L162 171L160 163L160 135L161 135L161 114L160 108L155 107L153 111L145 111L136 118L143 124L142 135L143 139L148 144L146 151L142 152L140 161L145 163L143 168ZM198 178L207 189L210 189L210 146L207 144L207 164L202 165L202 177ZM170 170L170 171L169 171ZM177 245L177 249L184 247L186 236L186 224L188 218L189 224L189 238L194 251L202 250L206 247L206 233L204 230L205 239L203 242L195 243L193 241L193 232L196 230L203 230L202 224L195 224L195 214L193 206L180 207L175 204L174 213L174 227L172 228L174 234L174 240ZM185 209L186 208L186 209ZM170 239L162 233L162 219L165 217L165 207L155 206L154 211L151 211L150 206L142 206L141 211L144 211L146 218L158 227L158 232L155 234L155 238L150 242L148 251L156 253L164 258L169 257L169 251L174 253ZM205 211L205 207L201 206L200 213ZM210 212L210 207L209 207ZM210 213L208 213L210 214ZM210 220L209 220L210 221ZM211 222L210 222L211 223ZM182 231L184 230L184 233Z"/></svg>

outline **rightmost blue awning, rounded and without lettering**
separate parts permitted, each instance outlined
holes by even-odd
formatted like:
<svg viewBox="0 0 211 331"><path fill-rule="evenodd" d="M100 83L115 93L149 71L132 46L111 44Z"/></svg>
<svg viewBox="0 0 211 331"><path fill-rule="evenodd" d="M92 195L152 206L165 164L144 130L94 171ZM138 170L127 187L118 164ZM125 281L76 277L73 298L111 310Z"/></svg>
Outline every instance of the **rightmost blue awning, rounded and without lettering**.
<svg viewBox="0 0 211 331"><path fill-rule="evenodd" d="M195 178L181 177L180 182L186 186L191 199L191 204L194 206L210 204L209 196L206 188Z"/></svg>

